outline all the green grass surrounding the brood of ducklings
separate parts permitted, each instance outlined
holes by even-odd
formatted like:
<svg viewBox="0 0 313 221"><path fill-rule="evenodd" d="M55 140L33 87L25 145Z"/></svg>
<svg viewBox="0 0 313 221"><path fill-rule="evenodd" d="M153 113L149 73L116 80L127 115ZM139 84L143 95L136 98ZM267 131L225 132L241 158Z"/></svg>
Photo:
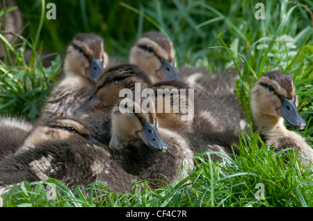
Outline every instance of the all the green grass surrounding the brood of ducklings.
<svg viewBox="0 0 313 221"><path fill-rule="evenodd" d="M298 110L307 127L302 131L288 127L313 147L311 1L302 1L307 8L293 1L266 1L264 20L254 17L258 1L54 1L55 21L42 19L41 1L17 2L27 11L26 27L20 33L24 39L7 44L13 55L7 55L0 64L1 114L36 118L51 82L61 70L61 58L45 69L35 50L62 55L75 33L93 31L104 37L109 55L127 61L136 37L154 29L172 39L178 67L238 69L236 92L251 124L249 98L253 83L270 70L291 74L299 98ZM120 15L118 19L116 15ZM38 28L40 23L42 28ZM23 59L27 47L33 51L29 64ZM189 177L154 191L145 185L123 194L111 193L100 184L72 189L51 179L48 182L58 190L55 200L47 200L46 185L23 182L2 195L3 206L313 206L312 168L301 167L297 154L273 152L264 143L258 148L260 140L255 131L249 136L241 134L241 155L234 160L212 162L195 156L197 163ZM289 163L284 161L286 155ZM256 198L257 184L264 185L264 199ZM86 191L90 195L84 195Z"/></svg>

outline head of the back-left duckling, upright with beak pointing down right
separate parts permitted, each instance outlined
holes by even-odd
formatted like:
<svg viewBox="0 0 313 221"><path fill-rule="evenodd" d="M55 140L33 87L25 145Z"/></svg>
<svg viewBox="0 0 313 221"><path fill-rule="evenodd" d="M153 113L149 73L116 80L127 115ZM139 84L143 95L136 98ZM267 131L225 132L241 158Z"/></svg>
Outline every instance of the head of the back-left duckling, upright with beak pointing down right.
<svg viewBox="0 0 313 221"><path fill-rule="evenodd" d="M97 82L109 64L109 56L104 52L104 42L93 33L75 35L64 62L65 74L77 73L92 82Z"/></svg>

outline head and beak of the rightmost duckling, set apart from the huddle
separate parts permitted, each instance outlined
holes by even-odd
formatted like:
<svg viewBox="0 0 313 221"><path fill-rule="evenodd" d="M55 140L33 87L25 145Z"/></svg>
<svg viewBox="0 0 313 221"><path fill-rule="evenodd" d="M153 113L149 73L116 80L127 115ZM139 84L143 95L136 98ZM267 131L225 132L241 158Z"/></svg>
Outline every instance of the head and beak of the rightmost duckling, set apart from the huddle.
<svg viewBox="0 0 313 221"><path fill-rule="evenodd" d="M257 127L271 119L270 123L284 118L289 125L302 130L306 123L297 110L298 98L291 76L282 71L265 73L252 88L251 110ZM268 123L268 122L267 122Z"/></svg>

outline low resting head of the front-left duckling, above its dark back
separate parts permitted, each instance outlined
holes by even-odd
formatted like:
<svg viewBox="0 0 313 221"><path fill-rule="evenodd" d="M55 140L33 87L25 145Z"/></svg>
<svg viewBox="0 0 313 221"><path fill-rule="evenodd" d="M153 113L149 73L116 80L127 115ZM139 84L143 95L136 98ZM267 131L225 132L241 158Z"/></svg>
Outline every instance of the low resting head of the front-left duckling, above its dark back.
<svg viewBox="0 0 313 221"><path fill-rule="evenodd" d="M46 141L63 141L63 140L90 140L97 144L93 138L90 128L83 123L71 118L57 118L42 121L35 125L20 150L28 150L36 145L42 145Z"/></svg>

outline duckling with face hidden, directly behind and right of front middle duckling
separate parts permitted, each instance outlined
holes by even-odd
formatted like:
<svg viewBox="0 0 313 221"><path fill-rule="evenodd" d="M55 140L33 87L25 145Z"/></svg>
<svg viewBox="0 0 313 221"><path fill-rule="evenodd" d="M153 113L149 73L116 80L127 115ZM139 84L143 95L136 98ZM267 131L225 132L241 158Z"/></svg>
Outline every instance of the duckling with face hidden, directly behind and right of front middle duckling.
<svg viewBox="0 0 313 221"><path fill-rule="evenodd" d="M194 90L186 82L179 80L159 82L150 88L156 94L157 118L161 127L184 134L196 153L206 150L232 153L232 144L239 143L239 132L246 129L243 110L234 98L201 100L195 98ZM158 109L160 104L163 107L161 112ZM166 112L164 107L170 108ZM228 112L226 116L225 112Z"/></svg>

